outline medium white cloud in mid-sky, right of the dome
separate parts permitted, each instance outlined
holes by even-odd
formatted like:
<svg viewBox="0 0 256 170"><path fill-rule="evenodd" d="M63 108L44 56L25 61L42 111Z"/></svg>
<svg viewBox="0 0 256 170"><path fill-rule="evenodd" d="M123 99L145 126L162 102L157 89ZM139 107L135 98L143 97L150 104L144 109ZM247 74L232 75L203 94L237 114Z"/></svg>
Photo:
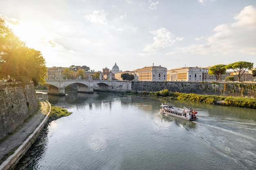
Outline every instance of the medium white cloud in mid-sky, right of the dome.
<svg viewBox="0 0 256 170"><path fill-rule="evenodd" d="M172 46L176 41L182 41L183 38L175 37L170 31L166 28L160 28L156 31L150 31L154 35L154 42L148 44L144 51L155 52L161 48L166 48Z"/></svg>

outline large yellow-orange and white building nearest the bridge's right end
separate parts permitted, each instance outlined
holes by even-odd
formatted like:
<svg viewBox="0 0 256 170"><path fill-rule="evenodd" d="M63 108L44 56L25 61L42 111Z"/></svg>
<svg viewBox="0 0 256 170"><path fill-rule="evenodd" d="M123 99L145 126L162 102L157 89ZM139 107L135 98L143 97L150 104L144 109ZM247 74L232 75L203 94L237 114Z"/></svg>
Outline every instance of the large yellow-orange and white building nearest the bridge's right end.
<svg viewBox="0 0 256 170"><path fill-rule="evenodd" d="M167 68L150 66L134 70L135 81L166 81Z"/></svg>

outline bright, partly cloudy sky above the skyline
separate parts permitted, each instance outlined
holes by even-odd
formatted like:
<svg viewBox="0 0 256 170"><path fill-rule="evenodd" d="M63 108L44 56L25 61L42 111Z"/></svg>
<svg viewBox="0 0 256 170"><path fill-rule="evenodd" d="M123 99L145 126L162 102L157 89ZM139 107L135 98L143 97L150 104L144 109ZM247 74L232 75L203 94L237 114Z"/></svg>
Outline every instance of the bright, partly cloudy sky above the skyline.
<svg viewBox="0 0 256 170"><path fill-rule="evenodd" d="M256 68L256 0L1 0L0 17L47 67Z"/></svg>

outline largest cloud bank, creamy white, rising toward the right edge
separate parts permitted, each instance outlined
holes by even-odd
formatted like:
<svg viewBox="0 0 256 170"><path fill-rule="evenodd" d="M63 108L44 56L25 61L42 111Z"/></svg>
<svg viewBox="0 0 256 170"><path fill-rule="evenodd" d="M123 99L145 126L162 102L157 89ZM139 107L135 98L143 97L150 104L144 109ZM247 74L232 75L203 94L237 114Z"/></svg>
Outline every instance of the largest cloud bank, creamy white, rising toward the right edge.
<svg viewBox="0 0 256 170"><path fill-rule="evenodd" d="M206 39L206 44L186 46L180 48L180 52L230 56L237 53L256 54L256 8L247 6L234 19L234 23L214 28L215 34Z"/></svg>

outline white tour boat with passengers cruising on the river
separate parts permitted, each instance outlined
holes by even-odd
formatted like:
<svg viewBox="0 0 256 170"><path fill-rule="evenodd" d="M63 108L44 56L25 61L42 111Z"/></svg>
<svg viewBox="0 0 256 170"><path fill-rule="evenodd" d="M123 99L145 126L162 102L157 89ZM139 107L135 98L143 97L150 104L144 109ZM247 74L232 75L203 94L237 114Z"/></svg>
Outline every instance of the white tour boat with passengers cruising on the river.
<svg viewBox="0 0 256 170"><path fill-rule="evenodd" d="M173 106L169 105L160 105L162 109L160 109L160 113L162 114L167 114L171 116L176 116L178 118L186 119L186 120L197 120L196 114L198 113L197 111L193 109L187 109L184 107L183 109L175 108Z"/></svg>

